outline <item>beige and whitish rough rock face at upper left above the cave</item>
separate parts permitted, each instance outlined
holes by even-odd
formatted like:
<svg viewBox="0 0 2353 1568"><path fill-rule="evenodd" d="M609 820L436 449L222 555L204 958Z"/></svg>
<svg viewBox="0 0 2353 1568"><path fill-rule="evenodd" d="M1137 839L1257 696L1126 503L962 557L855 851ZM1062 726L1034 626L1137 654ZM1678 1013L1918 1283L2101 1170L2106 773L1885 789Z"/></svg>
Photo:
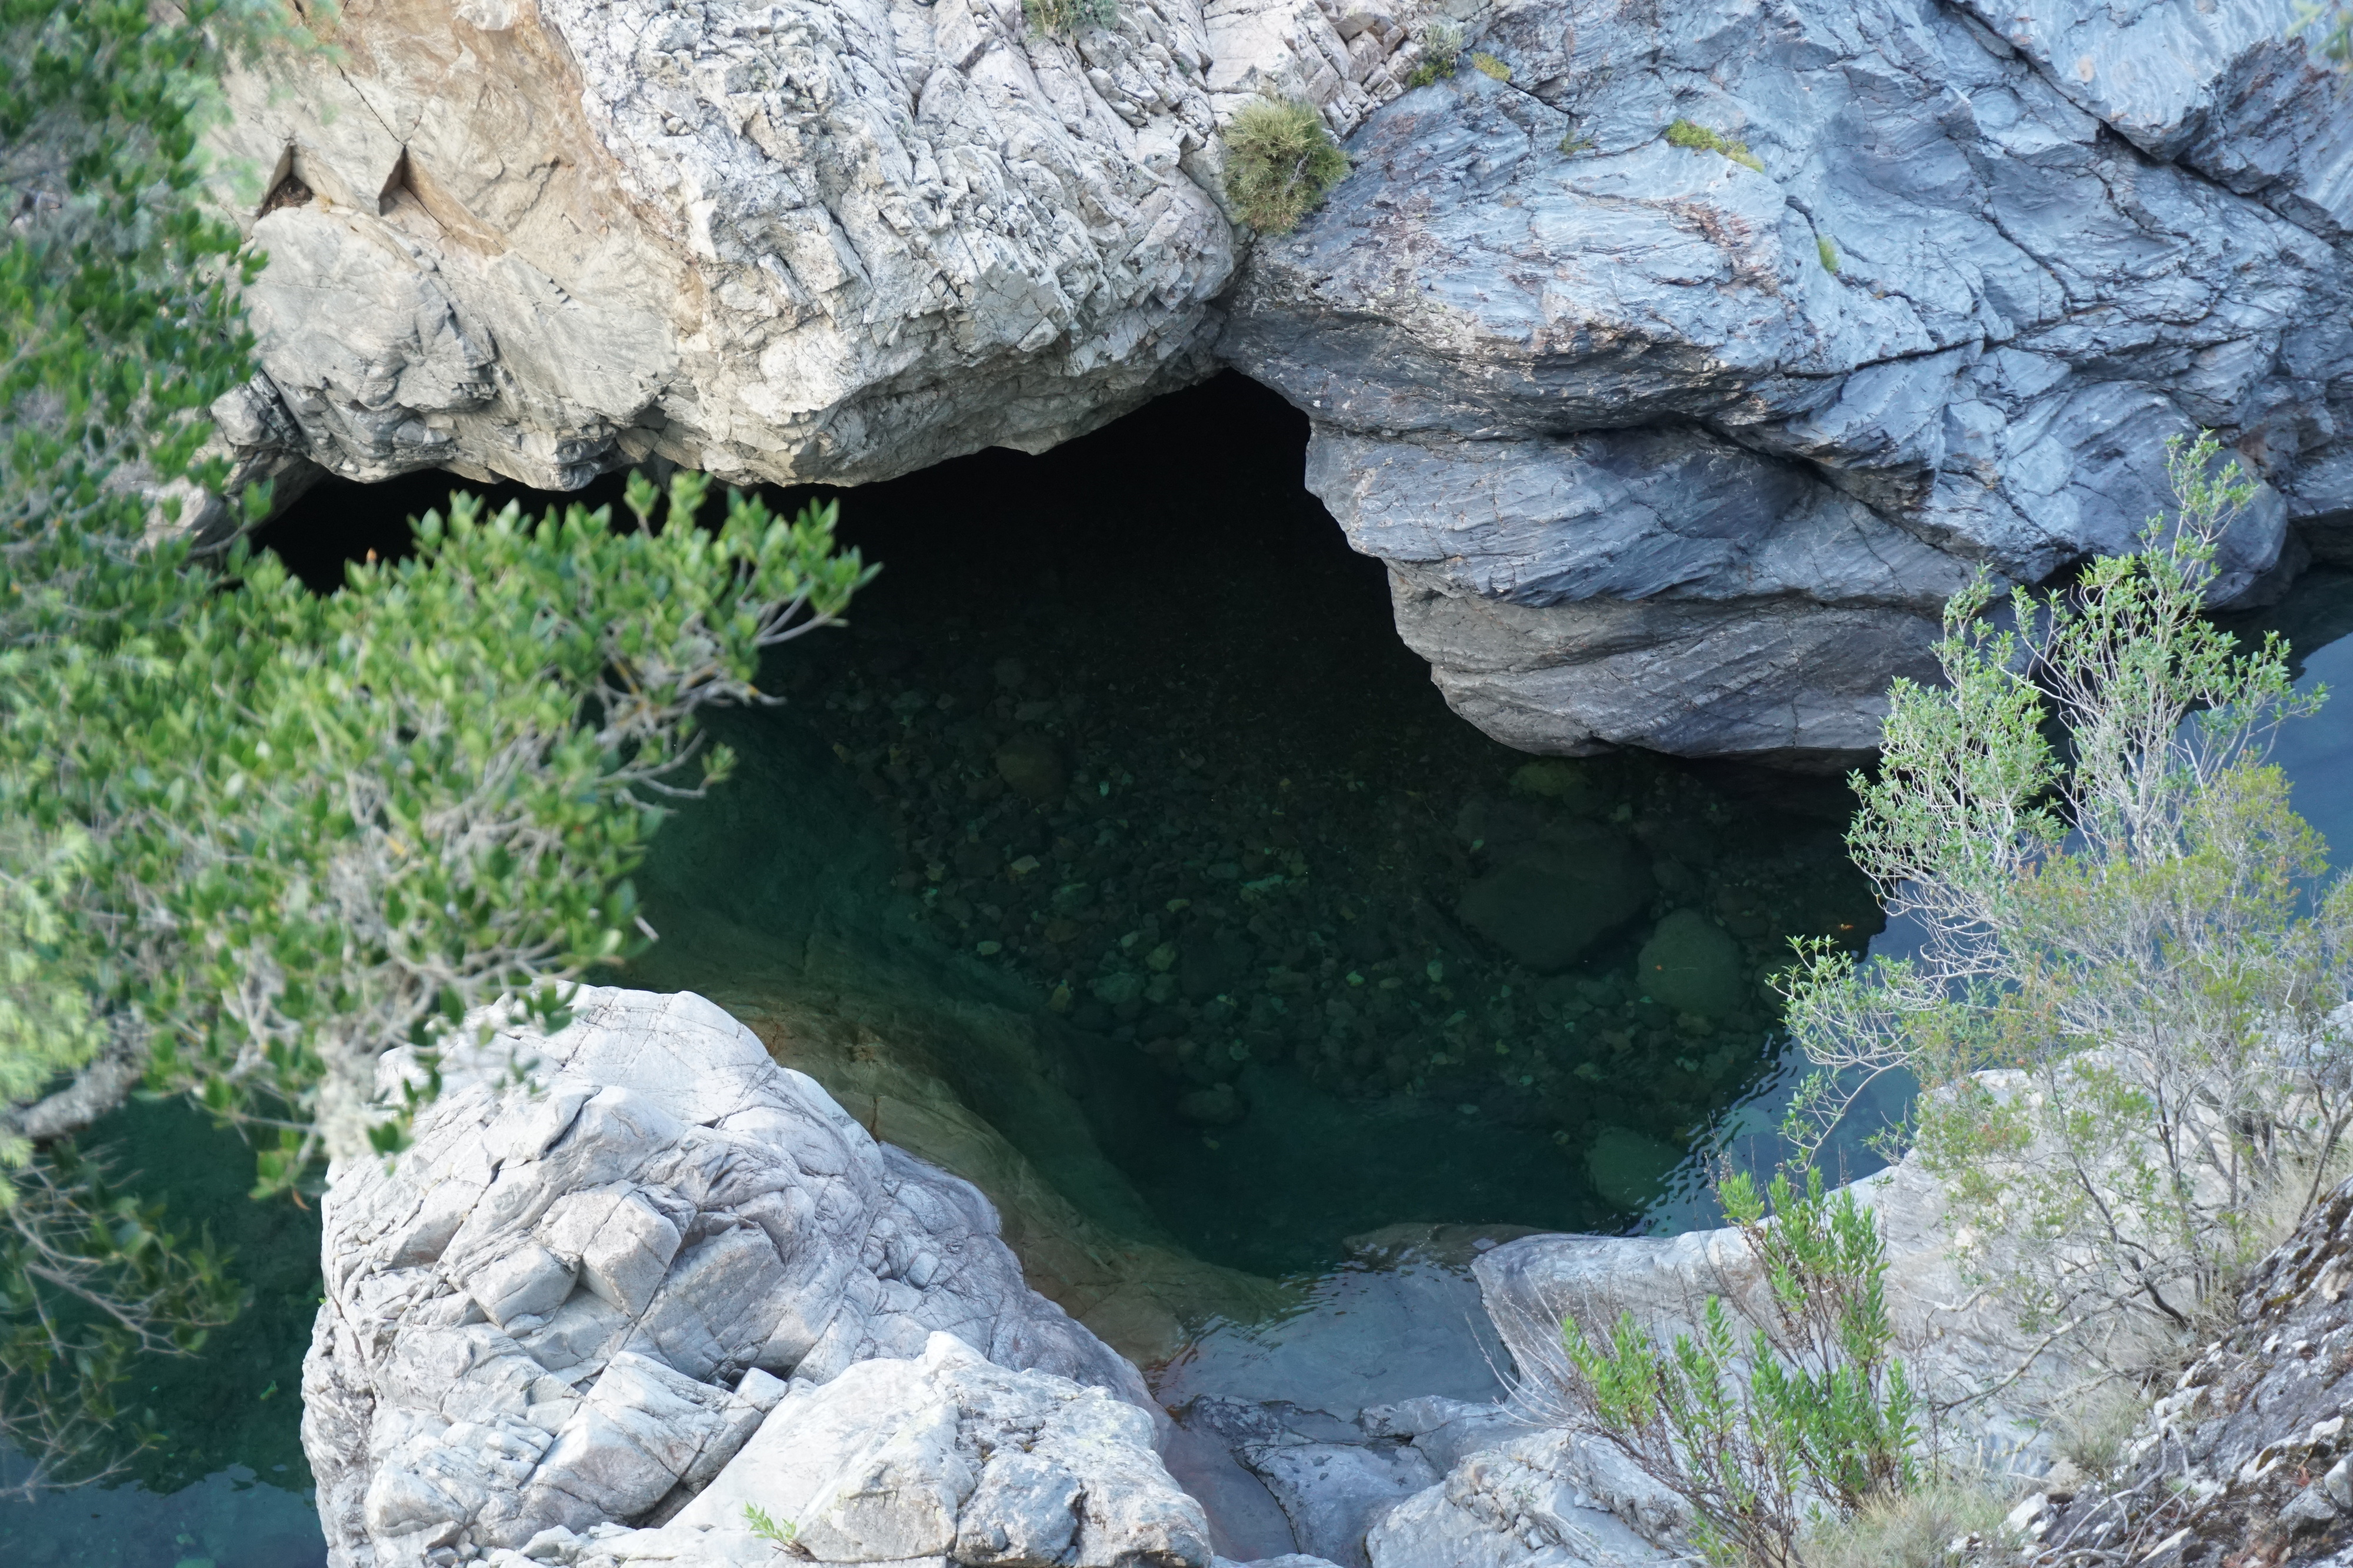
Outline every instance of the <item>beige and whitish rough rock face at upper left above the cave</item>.
<svg viewBox="0 0 2353 1568"><path fill-rule="evenodd" d="M1127 0L1075 42L1019 0L348 0L334 47L228 82L254 186L219 195L268 268L224 435L546 489L878 480L1200 376L1219 106L1348 132L1414 59L1315 0Z"/></svg>

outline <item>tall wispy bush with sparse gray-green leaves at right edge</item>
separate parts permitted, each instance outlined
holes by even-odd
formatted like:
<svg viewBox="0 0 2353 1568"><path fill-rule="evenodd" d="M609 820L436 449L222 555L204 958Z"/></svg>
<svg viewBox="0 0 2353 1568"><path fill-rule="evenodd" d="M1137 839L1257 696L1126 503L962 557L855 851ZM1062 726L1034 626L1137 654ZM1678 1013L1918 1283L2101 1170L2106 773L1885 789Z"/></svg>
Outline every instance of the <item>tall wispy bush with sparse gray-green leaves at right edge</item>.
<svg viewBox="0 0 2353 1568"><path fill-rule="evenodd" d="M1913 1074L1899 1131L1946 1178L1972 1276L2118 1366L2193 1333L2353 1124L2353 884L2315 891L2320 839L2264 762L2320 696L2278 639L2242 654L2202 618L2252 482L2212 437L2169 468L2179 517L2137 555L2019 590L2002 625L1984 583L1948 604L1946 684L1892 689L1847 835L1922 947L1812 945L1788 980L1826 1067L1793 1135Z"/></svg>

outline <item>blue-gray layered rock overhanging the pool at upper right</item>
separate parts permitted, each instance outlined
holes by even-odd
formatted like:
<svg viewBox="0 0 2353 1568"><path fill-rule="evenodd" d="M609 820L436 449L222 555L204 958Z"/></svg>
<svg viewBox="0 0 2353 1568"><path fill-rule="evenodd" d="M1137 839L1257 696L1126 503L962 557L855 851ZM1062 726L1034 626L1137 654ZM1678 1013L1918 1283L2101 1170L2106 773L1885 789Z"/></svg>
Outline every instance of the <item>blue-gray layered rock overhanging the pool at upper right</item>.
<svg viewBox="0 0 2353 1568"><path fill-rule="evenodd" d="M1497 738L1864 750L1972 571L2132 548L2169 435L2268 480L2217 602L2344 531L2353 113L2292 24L1506 2L1511 80L1379 110L1219 353L1308 411L1308 484Z"/></svg>

